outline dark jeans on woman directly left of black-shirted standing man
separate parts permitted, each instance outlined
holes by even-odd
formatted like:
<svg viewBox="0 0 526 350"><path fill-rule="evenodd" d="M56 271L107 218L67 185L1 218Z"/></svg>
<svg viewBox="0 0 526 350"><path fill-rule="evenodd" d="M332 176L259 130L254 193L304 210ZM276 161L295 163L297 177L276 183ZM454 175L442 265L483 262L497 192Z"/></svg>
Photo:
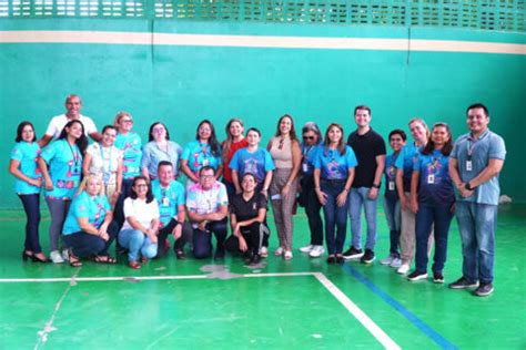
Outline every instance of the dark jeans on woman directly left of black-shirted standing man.
<svg viewBox="0 0 526 350"><path fill-rule="evenodd" d="M322 179L320 187L327 195L327 202L323 206L327 250L332 255L342 254L347 233L347 204L340 207L336 198L345 188L345 179ZM336 237L334 237L334 226L336 226Z"/></svg>

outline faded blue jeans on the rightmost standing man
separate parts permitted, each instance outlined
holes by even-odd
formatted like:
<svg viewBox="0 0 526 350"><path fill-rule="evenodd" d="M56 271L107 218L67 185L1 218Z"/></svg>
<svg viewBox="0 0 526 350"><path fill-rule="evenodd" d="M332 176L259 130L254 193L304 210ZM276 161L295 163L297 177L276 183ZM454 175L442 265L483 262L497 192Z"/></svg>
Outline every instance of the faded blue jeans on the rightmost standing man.
<svg viewBox="0 0 526 350"><path fill-rule="evenodd" d="M482 284L493 282L497 206L457 202L456 217L462 239L464 278Z"/></svg>

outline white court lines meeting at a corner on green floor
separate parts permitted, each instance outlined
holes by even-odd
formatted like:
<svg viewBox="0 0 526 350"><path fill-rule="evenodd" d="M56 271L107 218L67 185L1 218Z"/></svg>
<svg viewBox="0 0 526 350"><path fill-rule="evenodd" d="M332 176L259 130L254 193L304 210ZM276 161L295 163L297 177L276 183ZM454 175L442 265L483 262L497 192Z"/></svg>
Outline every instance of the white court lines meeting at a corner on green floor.
<svg viewBox="0 0 526 350"><path fill-rule="evenodd" d="M275 272L275 274L243 274L242 278L262 277L296 277L313 276L334 298L358 320L360 323L385 348L398 350L401 347L387 336L362 309L360 309L336 285L334 285L322 272ZM185 280L185 279L208 279L208 275L172 275L172 276L120 276L120 277L63 277L63 278L2 278L0 284L28 284L28 282L75 282L82 281L129 281L133 280ZM235 278L233 278L235 279ZM71 286L70 286L71 288ZM54 313L53 317L54 318Z"/></svg>

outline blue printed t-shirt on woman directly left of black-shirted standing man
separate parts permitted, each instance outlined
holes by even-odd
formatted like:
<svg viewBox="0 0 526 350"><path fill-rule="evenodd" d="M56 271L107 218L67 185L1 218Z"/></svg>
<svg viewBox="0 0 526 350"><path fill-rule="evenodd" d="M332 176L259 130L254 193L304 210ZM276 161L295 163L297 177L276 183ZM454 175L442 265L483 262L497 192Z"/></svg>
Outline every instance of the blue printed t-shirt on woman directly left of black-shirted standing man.
<svg viewBox="0 0 526 350"><path fill-rule="evenodd" d="M321 169L320 177L323 179L345 179L348 169L358 165L353 148L345 146L345 154L340 151L320 146L316 151L314 168Z"/></svg>

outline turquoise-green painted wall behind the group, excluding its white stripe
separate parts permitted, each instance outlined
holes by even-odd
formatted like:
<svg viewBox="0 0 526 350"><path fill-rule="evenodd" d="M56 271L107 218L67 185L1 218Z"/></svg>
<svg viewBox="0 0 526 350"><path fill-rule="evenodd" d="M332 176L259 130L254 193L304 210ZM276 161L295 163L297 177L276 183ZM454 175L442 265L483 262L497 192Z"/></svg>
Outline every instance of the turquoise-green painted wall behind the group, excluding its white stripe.
<svg viewBox="0 0 526 350"><path fill-rule="evenodd" d="M526 43L525 34L406 28L240 24L165 20L2 20L9 30L108 30L206 34L357 37ZM63 112L69 93L83 99L83 114L99 128L120 110L135 117L146 138L153 121L168 124L184 145L196 124L211 119L220 138L224 124L240 116L269 138L277 119L296 125L338 122L348 133L356 104L373 110L373 127L384 136L407 121L445 121L454 136L466 131L465 109L484 102L490 127L503 135L507 161L503 194L526 200L519 176L525 130L526 55L361 50L253 49L224 47L0 43L0 207L19 206L7 172L16 127L22 120L42 135L51 116Z"/></svg>

